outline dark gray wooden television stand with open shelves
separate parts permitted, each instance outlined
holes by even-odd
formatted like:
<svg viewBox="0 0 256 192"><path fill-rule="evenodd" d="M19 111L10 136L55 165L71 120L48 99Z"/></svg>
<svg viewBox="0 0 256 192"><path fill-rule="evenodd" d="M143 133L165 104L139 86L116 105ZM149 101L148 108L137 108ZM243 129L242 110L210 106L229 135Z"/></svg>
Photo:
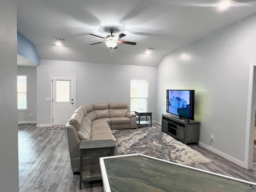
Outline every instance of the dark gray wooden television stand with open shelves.
<svg viewBox="0 0 256 192"><path fill-rule="evenodd" d="M181 142L184 142L184 144L198 144L200 122L192 120L185 122L182 119L172 117L170 114L162 114L161 130Z"/></svg>

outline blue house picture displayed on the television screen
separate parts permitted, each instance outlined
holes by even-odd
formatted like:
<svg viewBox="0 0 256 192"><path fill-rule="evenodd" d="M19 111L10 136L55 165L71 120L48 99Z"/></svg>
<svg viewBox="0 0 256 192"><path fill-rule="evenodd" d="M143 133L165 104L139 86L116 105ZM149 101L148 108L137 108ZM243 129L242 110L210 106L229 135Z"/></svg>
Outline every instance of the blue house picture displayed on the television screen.
<svg viewBox="0 0 256 192"><path fill-rule="evenodd" d="M189 117L189 91L169 90L168 112L182 117Z"/></svg>

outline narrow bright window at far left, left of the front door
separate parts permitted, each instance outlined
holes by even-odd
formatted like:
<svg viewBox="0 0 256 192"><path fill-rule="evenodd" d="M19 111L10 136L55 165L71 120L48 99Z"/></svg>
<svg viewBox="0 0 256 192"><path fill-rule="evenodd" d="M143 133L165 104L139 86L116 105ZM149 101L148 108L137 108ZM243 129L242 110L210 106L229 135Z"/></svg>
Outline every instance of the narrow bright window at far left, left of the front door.
<svg viewBox="0 0 256 192"><path fill-rule="evenodd" d="M27 76L17 76L18 110L27 109Z"/></svg>

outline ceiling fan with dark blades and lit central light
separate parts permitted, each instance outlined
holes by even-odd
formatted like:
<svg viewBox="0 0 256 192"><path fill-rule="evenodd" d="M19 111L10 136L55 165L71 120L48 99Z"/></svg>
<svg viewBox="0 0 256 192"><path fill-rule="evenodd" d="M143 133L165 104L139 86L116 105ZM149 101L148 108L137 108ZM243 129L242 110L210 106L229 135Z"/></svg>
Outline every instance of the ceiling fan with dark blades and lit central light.
<svg viewBox="0 0 256 192"><path fill-rule="evenodd" d="M117 46L118 43L124 43L124 44L129 44L129 45L136 45L135 42L119 40L120 38L126 36L126 34L121 33L119 35L114 36L113 35L114 29L109 29L109 31L110 31L111 34L106 36L106 38L98 36L98 35L90 34L90 35L93 35L93 36L96 36L96 37L104 39L104 41L102 41L102 42L92 43L90 45L95 45L95 44L99 44L99 43L106 43L106 46L108 46L111 49L117 48L116 46Z"/></svg>

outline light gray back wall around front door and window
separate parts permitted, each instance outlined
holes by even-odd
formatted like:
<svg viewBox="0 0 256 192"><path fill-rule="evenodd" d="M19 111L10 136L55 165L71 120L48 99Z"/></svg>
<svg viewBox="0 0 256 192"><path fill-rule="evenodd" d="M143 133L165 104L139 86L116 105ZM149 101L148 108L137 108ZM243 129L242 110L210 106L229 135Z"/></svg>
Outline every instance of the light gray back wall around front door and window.
<svg viewBox="0 0 256 192"><path fill-rule="evenodd" d="M51 124L51 74L76 75L76 108L97 102L127 102L130 79L149 80L148 109L155 114L156 67L40 60L37 67L37 124ZM154 116L152 117L154 119Z"/></svg>

